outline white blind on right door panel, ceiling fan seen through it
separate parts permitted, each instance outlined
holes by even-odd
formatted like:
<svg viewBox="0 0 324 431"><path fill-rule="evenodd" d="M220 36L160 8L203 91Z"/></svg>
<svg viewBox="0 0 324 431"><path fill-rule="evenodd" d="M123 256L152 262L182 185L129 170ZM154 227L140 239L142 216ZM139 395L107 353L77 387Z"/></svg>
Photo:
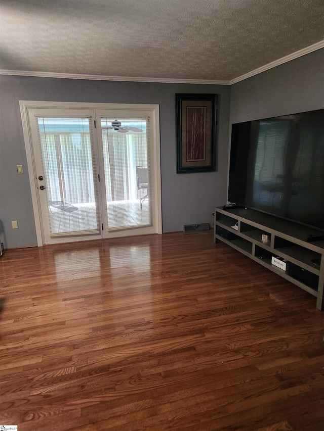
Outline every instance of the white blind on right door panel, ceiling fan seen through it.
<svg viewBox="0 0 324 431"><path fill-rule="evenodd" d="M101 129L108 230L151 225L149 118L105 117Z"/></svg>

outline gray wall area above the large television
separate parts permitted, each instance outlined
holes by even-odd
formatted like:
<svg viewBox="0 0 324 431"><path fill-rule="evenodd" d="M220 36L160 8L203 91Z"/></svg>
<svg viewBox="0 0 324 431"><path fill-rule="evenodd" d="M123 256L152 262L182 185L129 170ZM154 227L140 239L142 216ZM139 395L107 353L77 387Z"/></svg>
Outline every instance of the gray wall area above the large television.
<svg viewBox="0 0 324 431"><path fill-rule="evenodd" d="M231 85L230 123L324 108L324 49Z"/></svg>

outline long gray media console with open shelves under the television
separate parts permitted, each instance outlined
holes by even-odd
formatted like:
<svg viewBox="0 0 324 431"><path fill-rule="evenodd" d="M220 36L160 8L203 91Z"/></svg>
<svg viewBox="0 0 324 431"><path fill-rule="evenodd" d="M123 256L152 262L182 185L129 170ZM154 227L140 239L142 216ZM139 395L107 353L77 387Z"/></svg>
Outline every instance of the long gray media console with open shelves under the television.
<svg viewBox="0 0 324 431"><path fill-rule="evenodd" d="M316 229L246 208L215 208L214 237L315 296L324 310L324 240ZM271 263L288 262L287 269Z"/></svg>

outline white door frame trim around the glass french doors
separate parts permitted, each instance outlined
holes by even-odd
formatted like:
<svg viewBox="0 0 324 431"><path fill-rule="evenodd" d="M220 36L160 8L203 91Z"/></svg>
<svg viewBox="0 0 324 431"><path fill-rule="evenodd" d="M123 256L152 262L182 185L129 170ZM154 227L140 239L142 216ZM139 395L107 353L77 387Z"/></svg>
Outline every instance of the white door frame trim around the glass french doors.
<svg viewBox="0 0 324 431"><path fill-rule="evenodd" d="M43 101L19 101L20 113L22 119L23 135L25 141L27 166L29 173L29 183L31 190L32 206L34 211L35 229L37 237L37 246L42 247L45 244L43 224L41 222L39 199L37 194L37 176L35 174L35 161L33 157L31 131L29 125L29 109L42 109L42 108L52 108L52 109L114 109L118 110L137 110L141 111L151 111L151 121L152 121L152 148L154 148L152 154L152 164L154 169L152 170L152 175L154 175L153 183L155 184L153 193L156 197L154 202L154 212L156 214L156 219L153 224L156 225L155 233L162 233L162 211L161 211L161 170L160 170L160 140L159 140L159 106L158 105L139 105L139 104L113 104L113 103L81 103L81 102L43 102ZM129 234L134 234L129 231ZM116 235L118 235L116 233ZM121 235L119 235L121 236ZM93 237L75 237L69 238L69 242L93 240ZM61 241L62 242L62 241Z"/></svg>

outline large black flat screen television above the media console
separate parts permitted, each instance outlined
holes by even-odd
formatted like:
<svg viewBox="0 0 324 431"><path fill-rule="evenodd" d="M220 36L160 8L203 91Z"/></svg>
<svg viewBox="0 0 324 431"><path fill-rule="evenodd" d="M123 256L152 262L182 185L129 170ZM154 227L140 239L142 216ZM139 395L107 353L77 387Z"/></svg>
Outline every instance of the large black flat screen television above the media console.
<svg viewBox="0 0 324 431"><path fill-rule="evenodd" d="M324 109L233 124L228 201L324 230Z"/></svg>

